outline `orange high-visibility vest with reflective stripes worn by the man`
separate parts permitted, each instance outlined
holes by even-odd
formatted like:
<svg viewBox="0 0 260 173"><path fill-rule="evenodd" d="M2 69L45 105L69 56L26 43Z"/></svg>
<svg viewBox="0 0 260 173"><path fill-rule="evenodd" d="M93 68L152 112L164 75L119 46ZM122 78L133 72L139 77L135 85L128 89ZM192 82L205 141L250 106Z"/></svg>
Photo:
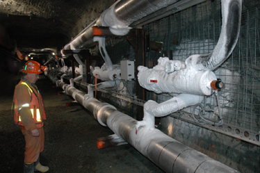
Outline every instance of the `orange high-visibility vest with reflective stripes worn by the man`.
<svg viewBox="0 0 260 173"><path fill-rule="evenodd" d="M20 85L25 85L26 88L28 89L28 90L23 90L23 92L29 92L29 94L31 95L30 103L24 103L23 105L17 105L17 93L16 92L17 92L17 88ZM45 114L45 110L44 110L42 96L40 95L36 86L34 88L31 85L31 83L29 83L25 80L21 80L15 87L14 103L15 103L15 115L14 115L15 124L18 124L19 126L24 127L24 124L22 123L22 120L21 120L21 116L23 116L23 115L19 115L19 110L21 110L22 108L30 108L31 111L29 111L29 113L26 113L26 114L31 114L31 115L26 115L26 116L29 116L30 119L32 118L34 120L35 126L37 129L42 128L42 126L43 126L42 120L46 120L46 114ZM33 121L31 120L31 122L33 122ZM34 124L33 124L33 126L34 126ZM29 130L33 130L33 129L29 128Z"/></svg>

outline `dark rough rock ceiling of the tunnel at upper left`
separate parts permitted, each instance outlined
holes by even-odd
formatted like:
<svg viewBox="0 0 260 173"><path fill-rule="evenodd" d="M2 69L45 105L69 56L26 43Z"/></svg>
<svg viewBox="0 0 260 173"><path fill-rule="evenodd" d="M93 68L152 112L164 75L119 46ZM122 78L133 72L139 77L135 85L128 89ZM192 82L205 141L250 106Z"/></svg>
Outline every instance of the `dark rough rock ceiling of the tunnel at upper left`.
<svg viewBox="0 0 260 173"><path fill-rule="evenodd" d="M0 0L0 44L61 49L115 0ZM16 42L16 43L15 43Z"/></svg>

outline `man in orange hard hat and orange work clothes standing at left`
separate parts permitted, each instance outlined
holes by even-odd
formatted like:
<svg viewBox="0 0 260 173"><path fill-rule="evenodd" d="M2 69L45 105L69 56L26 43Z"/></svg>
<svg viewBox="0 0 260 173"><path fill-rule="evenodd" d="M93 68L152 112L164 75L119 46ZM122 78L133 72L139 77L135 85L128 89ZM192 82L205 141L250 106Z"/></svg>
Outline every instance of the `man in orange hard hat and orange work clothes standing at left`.
<svg viewBox="0 0 260 173"><path fill-rule="evenodd" d="M29 60L21 70L24 73L15 87L15 124L21 126L26 142L24 152L24 173L47 172L49 167L40 164L40 152L44 149L43 122L46 114L35 82L42 73L40 63Z"/></svg>

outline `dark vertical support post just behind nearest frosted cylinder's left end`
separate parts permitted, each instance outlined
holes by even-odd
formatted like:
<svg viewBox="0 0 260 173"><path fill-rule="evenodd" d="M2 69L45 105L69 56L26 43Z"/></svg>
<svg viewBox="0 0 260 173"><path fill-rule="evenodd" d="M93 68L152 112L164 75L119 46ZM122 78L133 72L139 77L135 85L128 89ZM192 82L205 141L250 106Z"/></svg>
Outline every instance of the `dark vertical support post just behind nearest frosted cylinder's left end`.
<svg viewBox="0 0 260 173"><path fill-rule="evenodd" d="M145 89L142 88L138 83L138 70L137 67L139 65L145 65L145 56L146 56L146 47L145 47L145 29L137 29L136 31L137 39L136 39L136 50L135 50L135 78L136 78L136 96L138 99L145 100ZM143 106L136 107L136 120L143 120Z"/></svg>

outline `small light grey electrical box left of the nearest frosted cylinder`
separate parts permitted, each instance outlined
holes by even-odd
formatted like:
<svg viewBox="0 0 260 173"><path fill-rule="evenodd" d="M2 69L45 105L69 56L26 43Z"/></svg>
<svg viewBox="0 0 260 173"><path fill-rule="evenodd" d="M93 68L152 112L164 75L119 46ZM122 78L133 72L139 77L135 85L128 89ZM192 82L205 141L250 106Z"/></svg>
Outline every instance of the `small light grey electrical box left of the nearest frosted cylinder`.
<svg viewBox="0 0 260 173"><path fill-rule="evenodd" d="M131 80L134 79L134 62L131 60L121 60L121 79Z"/></svg>

